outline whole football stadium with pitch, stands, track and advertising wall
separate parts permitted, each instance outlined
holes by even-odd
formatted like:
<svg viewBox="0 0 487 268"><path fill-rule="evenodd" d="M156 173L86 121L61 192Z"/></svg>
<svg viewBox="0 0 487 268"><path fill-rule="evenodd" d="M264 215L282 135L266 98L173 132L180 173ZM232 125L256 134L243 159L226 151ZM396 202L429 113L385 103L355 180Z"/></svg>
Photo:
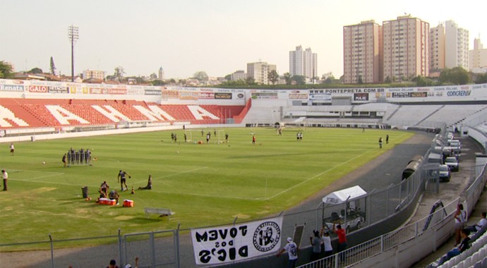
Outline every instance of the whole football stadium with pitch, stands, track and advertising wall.
<svg viewBox="0 0 487 268"><path fill-rule="evenodd" d="M486 208L487 84L0 79L0 145L1 267L284 267L289 240L301 267L487 262L485 225L445 257Z"/></svg>

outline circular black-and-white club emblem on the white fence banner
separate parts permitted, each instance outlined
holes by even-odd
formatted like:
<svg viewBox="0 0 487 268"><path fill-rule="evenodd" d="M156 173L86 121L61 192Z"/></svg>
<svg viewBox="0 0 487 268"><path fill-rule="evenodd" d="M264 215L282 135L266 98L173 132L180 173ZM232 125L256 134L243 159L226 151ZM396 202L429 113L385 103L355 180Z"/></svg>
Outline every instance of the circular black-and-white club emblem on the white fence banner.
<svg viewBox="0 0 487 268"><path fill-rule="evenodd" d="M274 221L265 221L253 233L253 246L256 250L267 252L275 248L281 238L281 229Z"/></svg>

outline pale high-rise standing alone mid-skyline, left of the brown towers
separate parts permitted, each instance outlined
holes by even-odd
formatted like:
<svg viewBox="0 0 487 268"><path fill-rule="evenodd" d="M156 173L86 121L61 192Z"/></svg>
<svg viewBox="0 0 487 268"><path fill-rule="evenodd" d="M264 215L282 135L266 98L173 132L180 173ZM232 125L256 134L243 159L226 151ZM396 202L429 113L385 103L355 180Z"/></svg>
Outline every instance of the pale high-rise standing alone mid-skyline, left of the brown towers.
<svg viewBox="0 0 487 268"><path fill-rule="evenodd" d="M311 48L303 50L303 47L296 47L295 51L289 51L289 73L303 75L307 78L317 76L318 55L311 51Z"/></svg>

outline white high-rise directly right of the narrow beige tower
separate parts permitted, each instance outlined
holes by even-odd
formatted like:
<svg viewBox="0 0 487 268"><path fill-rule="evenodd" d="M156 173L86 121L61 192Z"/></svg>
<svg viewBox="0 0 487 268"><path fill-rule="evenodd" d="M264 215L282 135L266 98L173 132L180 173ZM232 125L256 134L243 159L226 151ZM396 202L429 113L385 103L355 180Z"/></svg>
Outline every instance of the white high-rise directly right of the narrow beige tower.
<svg viewBox="0 0 487 268"><path fill-rule="evenodd" d="M453 20L445 22L445 68L469 68L469 31Z"/></svg>

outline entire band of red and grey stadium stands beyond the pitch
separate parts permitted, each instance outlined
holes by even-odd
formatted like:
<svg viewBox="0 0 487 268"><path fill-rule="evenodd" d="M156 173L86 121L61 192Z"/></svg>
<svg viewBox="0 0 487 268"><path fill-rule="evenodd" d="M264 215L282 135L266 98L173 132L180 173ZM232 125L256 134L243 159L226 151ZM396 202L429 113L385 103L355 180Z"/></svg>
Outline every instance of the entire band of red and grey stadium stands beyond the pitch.
<svg viewBox="0 0 487 268"><path fill-rule="evenodd" d="M166 123L215 124L231 123L365 123L391 126L436 127L479 121L479 129L487 133L485 104L397 105L369 103L361 105L329 106L245 106L157 104L136 100L116 99L20 99L0 98L0 105L8 113L25 121L28 127L96 126L124 121L152 121ZM157 115L157 107L169 118ZM197 107L197 108L195 108ZM461 108L461 109L459 109ZM51 111L49 111L51 109ZM5 111L5 110L4 110ZM52 112L54 111L54 112ZM70 118L67 113L74 116ZM203 112L201 112L203 111ZM201 112L201 113L200 113ZM155 116L150 116L154 114ZM56 118L55 116L58 116ZM150 118L148 117L150 116ZM2 128L22 128L18 123Z"/></svg>

